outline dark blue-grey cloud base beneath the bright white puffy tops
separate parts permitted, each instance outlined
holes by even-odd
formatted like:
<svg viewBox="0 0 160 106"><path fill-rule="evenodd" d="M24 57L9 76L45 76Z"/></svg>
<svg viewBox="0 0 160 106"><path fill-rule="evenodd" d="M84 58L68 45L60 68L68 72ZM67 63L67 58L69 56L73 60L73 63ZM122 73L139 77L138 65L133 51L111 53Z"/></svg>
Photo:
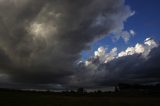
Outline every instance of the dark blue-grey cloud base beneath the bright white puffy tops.
<svg viewBox="0 0 160 106"><path fill-rule="evenodd" d="M160 47L151 49L151 52L145 57L143 53L135 53L113 59L108 63L95 63L94 61L95 59L91 60L92 63L88 66L85 66L84 63L79 65L80 69L85 70L85 72L80 71L77 75L80 77L79 79L83 79L77 81L78 84L81 84L80 86L105 87L117 85L118 83L160 83ZM78 77L75 77L75 79ZM86 83L86 81L88 82ZM87 84L90 85L87 86Z"/></svg>

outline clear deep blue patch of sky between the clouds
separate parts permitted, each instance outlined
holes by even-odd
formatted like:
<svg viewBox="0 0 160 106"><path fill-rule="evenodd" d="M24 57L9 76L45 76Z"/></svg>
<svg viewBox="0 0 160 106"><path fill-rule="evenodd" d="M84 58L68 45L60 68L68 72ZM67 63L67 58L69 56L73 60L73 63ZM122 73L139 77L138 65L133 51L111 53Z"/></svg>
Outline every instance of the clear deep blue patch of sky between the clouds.
<svg viewBox="0 0 160 106"><path fill-rule="evenodd" d="M127 46L133 46L137 42L143 42L147 37L153 37L160 40L160 14L159 14L159 0L126 0L125 4L135 11L135 14L128 18L124 24L126 30L134 30L135 36L125 43L123 39L118 39L115 42L112 40L112 35L105 36L91 44L91 50L82 52L82 59L86 59L89 55L92 55L94 51L100 47L118 47L120 50L124 50Z"/></svg>

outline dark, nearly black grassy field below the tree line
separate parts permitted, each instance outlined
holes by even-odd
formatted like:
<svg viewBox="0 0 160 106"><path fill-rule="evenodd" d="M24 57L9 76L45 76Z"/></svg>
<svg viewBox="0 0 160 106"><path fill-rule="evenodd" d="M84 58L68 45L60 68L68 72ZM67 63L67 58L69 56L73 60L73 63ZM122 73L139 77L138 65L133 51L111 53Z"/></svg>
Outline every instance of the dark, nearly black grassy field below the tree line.
<svg viewBox="0 0 160 106"><path fill-rule="evenodd" d="M0 92L0 106L160 106L160 96Z"/></svg>

